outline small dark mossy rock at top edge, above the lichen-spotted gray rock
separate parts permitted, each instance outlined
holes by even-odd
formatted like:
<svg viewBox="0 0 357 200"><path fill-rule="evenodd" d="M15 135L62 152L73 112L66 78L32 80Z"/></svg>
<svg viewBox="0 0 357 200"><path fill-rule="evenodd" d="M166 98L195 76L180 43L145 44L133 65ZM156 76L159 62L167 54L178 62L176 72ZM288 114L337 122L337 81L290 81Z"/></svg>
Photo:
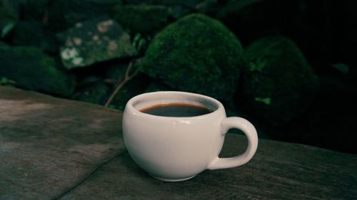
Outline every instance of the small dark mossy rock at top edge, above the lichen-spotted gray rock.
<svg viewBox="0 0 357 200"><path fill-rule="evenodd" d="M111 16L131 34L153 35L169 23L169 9L161 5L117 5Z"/></svg>

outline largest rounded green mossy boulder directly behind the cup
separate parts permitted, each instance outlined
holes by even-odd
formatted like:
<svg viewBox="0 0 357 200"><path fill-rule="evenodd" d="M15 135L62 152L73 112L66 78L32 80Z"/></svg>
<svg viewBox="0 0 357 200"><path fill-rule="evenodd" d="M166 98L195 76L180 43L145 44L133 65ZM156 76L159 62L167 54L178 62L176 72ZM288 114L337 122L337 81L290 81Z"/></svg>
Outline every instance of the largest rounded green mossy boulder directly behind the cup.
<svg viewBox="0 0 357 200"><path fill-rule="evenodd" d="M221 22L190 14L151 42L141 70L176 90L229 99L236 91L243 48Z"/></svg>

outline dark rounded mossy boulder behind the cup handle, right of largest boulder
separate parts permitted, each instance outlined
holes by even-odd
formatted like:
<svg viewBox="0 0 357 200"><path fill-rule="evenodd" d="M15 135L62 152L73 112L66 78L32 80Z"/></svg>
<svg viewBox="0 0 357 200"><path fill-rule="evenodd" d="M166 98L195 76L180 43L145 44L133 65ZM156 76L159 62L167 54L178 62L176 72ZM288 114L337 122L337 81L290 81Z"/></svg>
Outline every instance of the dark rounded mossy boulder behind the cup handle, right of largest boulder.
<svg viewBox="0 0 357 200"><path fill-rule="evenodd" d="M289 38L261 38L246 49L243 96L250 111L270 125L284 125L311 102L318 80Z"/></svg>

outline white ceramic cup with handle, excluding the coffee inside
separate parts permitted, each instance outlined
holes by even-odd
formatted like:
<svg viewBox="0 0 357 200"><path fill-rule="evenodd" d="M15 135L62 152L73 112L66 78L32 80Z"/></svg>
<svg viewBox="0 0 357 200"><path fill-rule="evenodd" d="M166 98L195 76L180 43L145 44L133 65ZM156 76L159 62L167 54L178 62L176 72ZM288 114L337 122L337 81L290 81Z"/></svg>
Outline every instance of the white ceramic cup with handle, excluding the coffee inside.
<svg viewBox="0 0 357 200"><path fill-rule="evenodd" d="M162 117L139 110L163 103L203 105L213 110L194 117ZM248 137L248 148L236 157L219 158L224 136L231 128ZM226 117L218 100L183 92L144 93L127 102L123 134L131 158L152 177L163 181L191 179L205 169L246 164L256 152L256 129L241 117Z"/></svg>

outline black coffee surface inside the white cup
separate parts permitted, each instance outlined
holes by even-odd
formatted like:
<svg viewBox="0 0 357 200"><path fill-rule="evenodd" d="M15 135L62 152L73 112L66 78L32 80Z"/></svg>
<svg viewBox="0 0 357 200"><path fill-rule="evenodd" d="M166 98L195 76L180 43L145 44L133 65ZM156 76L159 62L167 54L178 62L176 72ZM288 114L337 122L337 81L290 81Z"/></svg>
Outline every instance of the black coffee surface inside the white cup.
<svg viewBox="0 0 357 200"><path fill-rule="evenodd" d="M192 105L181 102L151 105L149 107L141 109L140 111L150 115L158 115L164 117L194 117L213 112L213 110L202 105Z"/></svg>

